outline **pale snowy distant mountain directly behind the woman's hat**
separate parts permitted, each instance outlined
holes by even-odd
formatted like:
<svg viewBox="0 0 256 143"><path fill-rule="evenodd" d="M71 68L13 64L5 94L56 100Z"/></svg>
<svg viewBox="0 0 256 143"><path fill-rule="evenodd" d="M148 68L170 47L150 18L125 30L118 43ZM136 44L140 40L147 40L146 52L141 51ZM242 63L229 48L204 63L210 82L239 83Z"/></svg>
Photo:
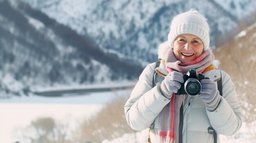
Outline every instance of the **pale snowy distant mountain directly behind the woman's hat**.
<svg viewBox="0 0 256 143"><path fill-rule="evenodd" d="M255 11L255 0L22 0L49 17L90 35L107 52L139 61L157 60L174 15L197 9L209 21L211 46Z"/></svg>

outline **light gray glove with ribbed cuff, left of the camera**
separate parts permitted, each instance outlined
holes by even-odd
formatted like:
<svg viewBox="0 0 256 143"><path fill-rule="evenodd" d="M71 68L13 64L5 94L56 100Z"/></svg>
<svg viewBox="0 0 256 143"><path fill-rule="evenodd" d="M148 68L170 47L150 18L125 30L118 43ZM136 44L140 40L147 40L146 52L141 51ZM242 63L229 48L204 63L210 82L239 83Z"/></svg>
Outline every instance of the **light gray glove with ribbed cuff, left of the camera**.
<svg viewBox="0 0 256 143"><path fill-rule="evenodd" d="M166 77L164 78L164 81L162 81L160 85L160 91L162 92L162 95L164 95L166 98L171 99L173 93L177 93L177 91L181 87L181 83L184 82L183 74L173 71L168 73Z"/></svg>

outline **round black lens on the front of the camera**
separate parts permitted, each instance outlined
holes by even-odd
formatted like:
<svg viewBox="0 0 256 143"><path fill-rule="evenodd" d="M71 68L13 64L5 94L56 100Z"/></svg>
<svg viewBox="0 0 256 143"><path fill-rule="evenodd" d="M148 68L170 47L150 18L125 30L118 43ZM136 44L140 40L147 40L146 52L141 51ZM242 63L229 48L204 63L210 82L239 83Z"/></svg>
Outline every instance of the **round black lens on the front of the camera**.
<svg viewBox="0 0 256 143"><path fill-rule="evenodd" d="M198 79L189 78L184 84L184 89L188 95L198 95L201 92L202 86Z"/></svg>

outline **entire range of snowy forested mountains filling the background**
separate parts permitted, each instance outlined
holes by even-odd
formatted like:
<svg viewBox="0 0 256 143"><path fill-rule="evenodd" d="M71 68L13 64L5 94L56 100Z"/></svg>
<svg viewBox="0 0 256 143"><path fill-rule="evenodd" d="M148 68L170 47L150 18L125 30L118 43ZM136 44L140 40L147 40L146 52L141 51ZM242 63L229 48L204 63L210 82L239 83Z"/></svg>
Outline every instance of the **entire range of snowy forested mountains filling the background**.
<svg viewBox="0 0 256 143"><path fill-rule="evenodd" d="M167 39L174 15L198 9L209 21L214 46L255 5L255 0L0 0L1 92L137 78L157 60L157 46Z"/></svg>

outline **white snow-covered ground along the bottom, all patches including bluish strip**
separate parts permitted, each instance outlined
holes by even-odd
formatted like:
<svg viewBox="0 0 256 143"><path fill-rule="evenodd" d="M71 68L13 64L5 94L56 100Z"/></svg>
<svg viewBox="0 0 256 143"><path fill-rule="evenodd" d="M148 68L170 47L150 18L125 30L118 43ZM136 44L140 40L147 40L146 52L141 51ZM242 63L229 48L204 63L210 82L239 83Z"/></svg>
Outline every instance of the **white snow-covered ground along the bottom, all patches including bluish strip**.
<svg viewBox="0 0 256 143"><path fill-rule="evenodd" d="M115 97L127 96L131 90L97 92L70 97L13 97L0 100L0 143L20 141L15 130L24 128L38 117L52 117L58 121L68 120L71 128L85 118L96 114L104 104ZM234 136L220 136L221 143L256 143L256 138L243 124ZM137 143L139 132L124 134L112 141L102 143ZM25 142L22 142L25 143Z"/></svg>

